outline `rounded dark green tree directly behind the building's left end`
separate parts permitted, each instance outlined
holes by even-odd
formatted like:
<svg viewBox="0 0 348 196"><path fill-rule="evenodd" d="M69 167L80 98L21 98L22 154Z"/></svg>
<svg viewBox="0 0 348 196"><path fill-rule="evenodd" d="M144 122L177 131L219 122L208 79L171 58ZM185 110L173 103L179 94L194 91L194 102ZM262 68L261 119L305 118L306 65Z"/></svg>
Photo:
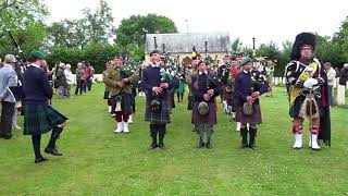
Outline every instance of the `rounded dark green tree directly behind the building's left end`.
<svg viewBox="0 0 348 196"><path fill-rule="evenodd" d="M171 19L162 15L132 15L122 20L116 30L115 42L122 47L126 47L129 44L144 47L146 34L154 33L177 33L177 28Z"/></svg>

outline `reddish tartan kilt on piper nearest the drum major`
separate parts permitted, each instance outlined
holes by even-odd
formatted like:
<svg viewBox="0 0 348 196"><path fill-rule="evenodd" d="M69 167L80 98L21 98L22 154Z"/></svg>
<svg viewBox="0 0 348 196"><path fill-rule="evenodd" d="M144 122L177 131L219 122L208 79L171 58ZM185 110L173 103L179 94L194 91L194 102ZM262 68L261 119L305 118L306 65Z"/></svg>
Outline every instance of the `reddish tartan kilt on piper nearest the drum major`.
<svg viewBox="0 0 348 196"><path fill-rule="evenodd" d="M252 105L253 113L251 115L245 115L243 112L243 106L237 107L237 113L236 113L236 122L241 122L241 124L261 124L262 118L261 118L261 107L259 103Z"/></svg>

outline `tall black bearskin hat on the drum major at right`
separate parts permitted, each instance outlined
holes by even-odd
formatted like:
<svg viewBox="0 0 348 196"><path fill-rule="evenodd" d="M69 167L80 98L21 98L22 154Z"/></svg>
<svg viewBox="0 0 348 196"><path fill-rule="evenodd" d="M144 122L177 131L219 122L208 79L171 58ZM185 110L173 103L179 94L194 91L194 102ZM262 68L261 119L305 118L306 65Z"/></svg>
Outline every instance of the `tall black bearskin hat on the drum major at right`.
<svg viewBox="0 0 348 196"><path fill-rule="evenodd" d="M304 45L309 45L315 49L316 45L316 36L312 33L301 33L296 36L295 42L293 45L293 50L291 50L291 60L299 60L301 57L301 47Z"/></svg>

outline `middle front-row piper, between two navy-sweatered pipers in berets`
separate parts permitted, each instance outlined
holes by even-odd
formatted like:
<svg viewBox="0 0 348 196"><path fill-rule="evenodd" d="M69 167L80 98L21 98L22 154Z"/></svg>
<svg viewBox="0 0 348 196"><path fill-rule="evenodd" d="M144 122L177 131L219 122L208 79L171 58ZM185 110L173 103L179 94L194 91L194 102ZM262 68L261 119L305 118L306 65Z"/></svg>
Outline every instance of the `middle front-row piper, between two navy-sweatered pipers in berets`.
<svg viewBox="0 0 348 196"><path fill-rule="evenodd" d="M215 97L222 93L222 85L216 75L208 71L203 60L198 62L198 73L191 76L191 85L194 94L191 123L196 125L199 134L198 147L211 148L213 125L217 122Z"/></svg>

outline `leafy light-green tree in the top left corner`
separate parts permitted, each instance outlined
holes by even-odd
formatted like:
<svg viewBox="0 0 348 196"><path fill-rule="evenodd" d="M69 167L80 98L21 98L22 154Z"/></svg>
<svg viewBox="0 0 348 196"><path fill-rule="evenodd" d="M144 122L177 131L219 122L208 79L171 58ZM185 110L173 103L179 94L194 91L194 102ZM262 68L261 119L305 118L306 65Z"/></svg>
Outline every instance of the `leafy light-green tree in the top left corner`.
<svg viewBox="0 0 348 196"><path fill-rule="evenodd" d="M7 29L15 37L25 54L39 48L46 37L42 21L49 14L42 0L4 0L0 2L0 54L15 52Z"/></svg>

